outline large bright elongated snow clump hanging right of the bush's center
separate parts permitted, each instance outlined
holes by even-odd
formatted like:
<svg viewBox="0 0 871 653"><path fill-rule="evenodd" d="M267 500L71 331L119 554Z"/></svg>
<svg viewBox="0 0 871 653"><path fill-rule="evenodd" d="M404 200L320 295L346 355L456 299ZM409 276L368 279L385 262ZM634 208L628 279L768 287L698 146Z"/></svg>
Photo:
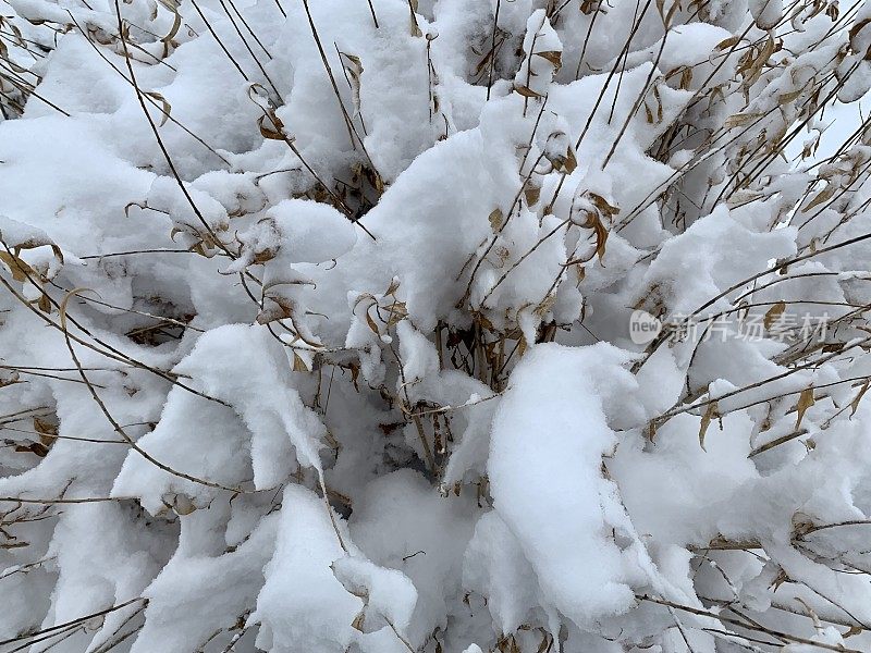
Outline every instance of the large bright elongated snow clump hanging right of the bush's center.
<svg viewBox="0 0 871 653"><path fill-rule="evenodd" d="M589 381L598 366L609 375L623 371L608 370L614 354L560 345L530 352L493 419L488 461L493 507L519 540L547 603L581 627L634 600L602 513L615 491L601 477L602 456L616 438Z"/></svg>

